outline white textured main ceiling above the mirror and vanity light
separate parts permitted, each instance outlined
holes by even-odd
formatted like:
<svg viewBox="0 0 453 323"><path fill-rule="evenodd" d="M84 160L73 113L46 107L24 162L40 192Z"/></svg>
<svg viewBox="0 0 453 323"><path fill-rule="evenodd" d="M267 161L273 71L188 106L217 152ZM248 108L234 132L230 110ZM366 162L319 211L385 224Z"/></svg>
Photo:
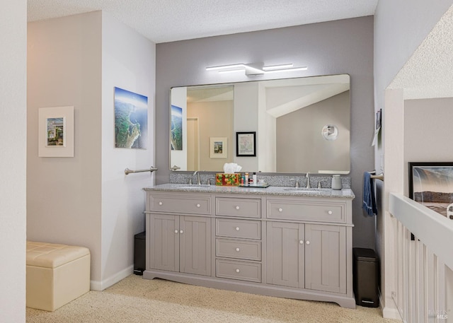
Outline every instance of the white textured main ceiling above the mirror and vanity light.
<svg viewBox="0 0 453 323"><path fill-rule="evenodd" d="M28 0L28 21L103 10L159 43L372 16L377 1Z"/></svg>

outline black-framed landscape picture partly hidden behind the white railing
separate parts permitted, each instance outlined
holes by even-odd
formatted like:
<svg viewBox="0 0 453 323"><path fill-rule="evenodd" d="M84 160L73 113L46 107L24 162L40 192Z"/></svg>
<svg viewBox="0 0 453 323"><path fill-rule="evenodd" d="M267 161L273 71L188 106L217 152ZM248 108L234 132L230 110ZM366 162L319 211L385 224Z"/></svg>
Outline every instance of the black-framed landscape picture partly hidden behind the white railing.
<svg viewBox="0 0 453 323"><path fill-rule="evenodd" d="M453 219L453 162L408 163L409 198Z"/></svg>

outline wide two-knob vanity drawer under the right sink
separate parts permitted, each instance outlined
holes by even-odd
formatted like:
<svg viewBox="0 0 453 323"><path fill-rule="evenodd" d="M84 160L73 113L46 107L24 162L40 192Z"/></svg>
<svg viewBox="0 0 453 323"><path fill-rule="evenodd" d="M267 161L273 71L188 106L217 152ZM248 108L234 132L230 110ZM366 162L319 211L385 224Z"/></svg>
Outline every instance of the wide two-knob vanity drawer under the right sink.
<svg viewBox="0 0 453 323"><path fill-rule="evenodd" d="M344 223L345 204L328 201L268 199L268 218Z"/></svg>

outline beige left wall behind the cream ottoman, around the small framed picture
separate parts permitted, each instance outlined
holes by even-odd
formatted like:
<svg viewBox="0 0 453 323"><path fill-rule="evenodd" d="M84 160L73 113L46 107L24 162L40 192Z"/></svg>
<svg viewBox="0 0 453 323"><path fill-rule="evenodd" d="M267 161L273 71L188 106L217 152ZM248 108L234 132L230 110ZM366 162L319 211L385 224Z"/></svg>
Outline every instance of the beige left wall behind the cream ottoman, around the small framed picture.
<svg viewBox="0 0 453 323"><path fill-rule="evenodd" d="M101 12L28 24L27 238L88 247L101 279ZM74 157L38 157L40 107L74 106Z"/></svg>

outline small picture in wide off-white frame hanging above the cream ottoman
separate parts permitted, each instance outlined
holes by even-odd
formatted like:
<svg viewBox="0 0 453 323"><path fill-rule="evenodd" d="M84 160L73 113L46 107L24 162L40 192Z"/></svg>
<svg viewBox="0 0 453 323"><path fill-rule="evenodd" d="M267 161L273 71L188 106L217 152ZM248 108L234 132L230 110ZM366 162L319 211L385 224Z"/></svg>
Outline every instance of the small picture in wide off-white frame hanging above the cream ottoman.
<svg viewBox="0 0 453 323"><path fill-rule="evenodd" d="M74 107L39 109L38 156L74 157Z"/></svg>

